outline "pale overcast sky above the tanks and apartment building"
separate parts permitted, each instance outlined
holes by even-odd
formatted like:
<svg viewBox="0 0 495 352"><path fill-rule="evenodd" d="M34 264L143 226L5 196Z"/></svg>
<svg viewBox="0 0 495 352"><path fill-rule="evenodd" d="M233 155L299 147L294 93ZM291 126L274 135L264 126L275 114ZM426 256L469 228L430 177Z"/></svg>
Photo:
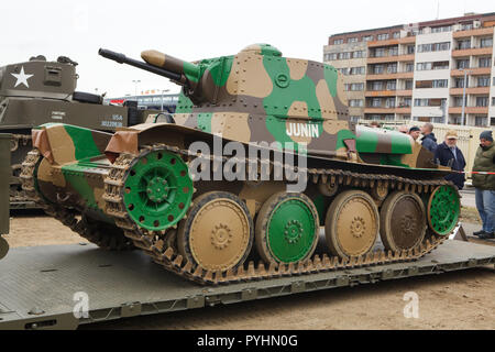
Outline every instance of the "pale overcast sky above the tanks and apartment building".
<svg viewBox="0 0 495 352"><path fill-rule="evenodd" d="M438 7L438 3L440 7ZM270 43L284 56L322 61L334 33L495 12L493 0L2 1L0 66L33 55L79 63L78 90L109 96L178 88L166 78L98 56L105 47L140 58L155 48L195 61Z"/></svg>

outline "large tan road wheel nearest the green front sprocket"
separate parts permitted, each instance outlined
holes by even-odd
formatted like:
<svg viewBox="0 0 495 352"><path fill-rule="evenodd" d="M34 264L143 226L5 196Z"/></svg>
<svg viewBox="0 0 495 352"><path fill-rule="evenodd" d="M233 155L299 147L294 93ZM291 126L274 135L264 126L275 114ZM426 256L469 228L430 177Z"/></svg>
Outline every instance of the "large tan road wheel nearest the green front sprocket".
<svg viewBox="0 0 495 352"><path fill-rule="evenodd" d="M177 231L179 253L207 271L243 264L253 245L253 219L235 195L211 191L194 200Z"/></svg>

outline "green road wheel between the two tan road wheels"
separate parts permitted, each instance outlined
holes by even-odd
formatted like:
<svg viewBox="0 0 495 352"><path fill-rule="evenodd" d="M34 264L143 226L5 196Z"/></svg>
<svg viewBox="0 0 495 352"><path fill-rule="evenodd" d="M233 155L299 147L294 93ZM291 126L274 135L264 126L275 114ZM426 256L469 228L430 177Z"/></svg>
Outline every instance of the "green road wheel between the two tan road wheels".
<svg viewBox="0 0 495 352"><path fill-rule="evenodd" d="M318 243L318 211L304 194L278 193L265 201L256 219L256 249L266 263L297 263Z"/></svg>

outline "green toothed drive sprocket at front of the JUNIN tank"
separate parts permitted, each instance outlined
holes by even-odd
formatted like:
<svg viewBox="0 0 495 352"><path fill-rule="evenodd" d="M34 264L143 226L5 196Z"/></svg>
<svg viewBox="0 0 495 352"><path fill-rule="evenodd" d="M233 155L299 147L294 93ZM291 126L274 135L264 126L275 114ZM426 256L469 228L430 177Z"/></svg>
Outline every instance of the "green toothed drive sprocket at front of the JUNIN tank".
<svg viewBox="0 0 495 352"><path fill-rule="evenodd" d="M153 150L133 163L123 193L131 219L146 230L162 231L184 218L194 187L188 166L178 155Z"/></svg>

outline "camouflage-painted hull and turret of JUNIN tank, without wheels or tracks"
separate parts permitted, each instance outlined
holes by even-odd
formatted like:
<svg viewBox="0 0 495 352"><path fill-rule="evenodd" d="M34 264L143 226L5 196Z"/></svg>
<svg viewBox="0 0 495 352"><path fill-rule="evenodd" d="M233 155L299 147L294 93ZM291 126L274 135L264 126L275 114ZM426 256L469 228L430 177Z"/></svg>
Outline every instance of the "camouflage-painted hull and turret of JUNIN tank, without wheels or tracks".
<svg viewBox="0 0 495 352"><path fill-rule="evenodd" d="M187 150L195 141L210 142L212 135L244 144L294 142L296 151L304 143L309 156L392 166L387 173L437 168L431 153L408 135L351 122L342 78L330 65L285 58L267 44L194 64L156 51L142 57L180 75L176 82L184 89L175 123L145 123L114 134L62 123L34 129L33 144L45 156L37 187L46 200L106 218L103 179L118 155L138 155L141 145L154 143ZM280 183L267 185L273 191L284 188ZM272 194L243 183L223 183L222 189L245 199L253 216ZM322 215L328 206L323 197L311 187L307 193L315 195Z"/></svg>

